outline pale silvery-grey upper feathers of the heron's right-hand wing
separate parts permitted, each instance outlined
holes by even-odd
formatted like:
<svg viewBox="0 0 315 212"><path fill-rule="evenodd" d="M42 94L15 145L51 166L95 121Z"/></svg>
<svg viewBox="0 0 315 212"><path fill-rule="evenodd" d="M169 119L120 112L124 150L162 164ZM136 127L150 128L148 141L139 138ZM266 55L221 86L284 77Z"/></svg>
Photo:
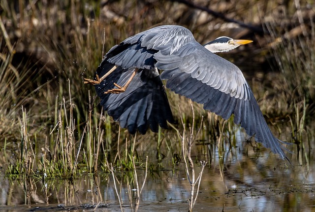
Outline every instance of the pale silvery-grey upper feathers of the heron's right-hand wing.
<svg viewBox="0 0 315 212"><path fill-rule="evenodd" d="M197 42L190 42L172 55L159 51L154 58L158 61L158 69L167 70L161 74L162 79L168 78L166 75L178 68L231 97L245 100L250 97L243 73L234 64L211 53Z"/></svg>

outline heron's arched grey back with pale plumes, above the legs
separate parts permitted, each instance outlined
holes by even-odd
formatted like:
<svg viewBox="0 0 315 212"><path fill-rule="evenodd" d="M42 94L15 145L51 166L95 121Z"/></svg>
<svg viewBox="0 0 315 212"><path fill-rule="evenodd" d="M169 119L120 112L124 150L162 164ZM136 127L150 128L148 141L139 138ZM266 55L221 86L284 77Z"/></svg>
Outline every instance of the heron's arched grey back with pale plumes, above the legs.
<svg viewBox="0 0 315 212"><path fill-rule="evenodd" d="M119 45L112 47L103 61L124 69L151 69L156 62L153 59L155 53L162 51L163 54L170 54L191 41L195 39L184 27L160 26L126 38Z"/></svg>

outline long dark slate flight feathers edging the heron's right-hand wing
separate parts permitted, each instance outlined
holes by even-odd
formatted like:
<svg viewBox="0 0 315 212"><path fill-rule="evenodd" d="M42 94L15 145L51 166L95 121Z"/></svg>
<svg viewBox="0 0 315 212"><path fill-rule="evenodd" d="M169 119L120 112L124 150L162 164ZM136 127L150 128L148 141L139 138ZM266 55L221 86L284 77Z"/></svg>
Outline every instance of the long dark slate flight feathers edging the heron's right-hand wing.
<svg viewBox="0 0 315 212"><path fill-rule="evenodd" d="M241 124L248 135L255 136L257 142L270 148L274 153L279 153L282 158L286 158L284 154L285 148L280 145L280 141L271 133L251 90L248 100L238 99L194 78L190 78L190 86L188 89L185 89L182 83L186 83L185 81L189 77L189 74L185 72L180 77L177 77L176 82L171 77L168 79L166 87L194 102L204 104L204 109L215 112L224 119L228 119L233 113L234 122ZM182 87L182 89L178 90L177 85Z"/></svg>

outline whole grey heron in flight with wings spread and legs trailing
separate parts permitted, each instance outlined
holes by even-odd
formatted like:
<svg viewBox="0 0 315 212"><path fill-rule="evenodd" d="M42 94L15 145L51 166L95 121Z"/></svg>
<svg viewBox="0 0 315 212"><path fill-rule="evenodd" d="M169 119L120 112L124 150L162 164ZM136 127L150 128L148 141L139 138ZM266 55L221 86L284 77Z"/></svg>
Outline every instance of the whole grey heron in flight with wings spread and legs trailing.
<svg viewBox="0 0 315 212"><path fill-rule="evenodd" d="M257 142L286 158L286 143L275 138L240 69L214 54L227 52L251 40L226 36L202 46L182 26L166 25L126 38L113 46L96 70L95 85L100 105L108 115L134 134L148 128L158 131L174 123L166 87L203 108L240 124ZM158 70L163 71L159 74Z"/></svg>

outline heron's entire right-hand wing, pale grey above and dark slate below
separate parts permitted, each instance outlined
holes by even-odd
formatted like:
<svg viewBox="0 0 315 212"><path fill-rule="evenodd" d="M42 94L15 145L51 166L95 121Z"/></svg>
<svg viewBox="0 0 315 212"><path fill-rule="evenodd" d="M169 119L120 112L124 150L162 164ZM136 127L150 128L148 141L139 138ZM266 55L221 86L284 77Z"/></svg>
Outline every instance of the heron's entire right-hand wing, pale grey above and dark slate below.
<svg viewBox="0 0 315 212"><path fill-rule="evenodd" d="M270 131L242 72L232 63L190 42L171 55L154 55L156 67L164 70L166 87L204 105L224 119L234 114L234 122L257 142L286 158L284 147Z"/></svg>

